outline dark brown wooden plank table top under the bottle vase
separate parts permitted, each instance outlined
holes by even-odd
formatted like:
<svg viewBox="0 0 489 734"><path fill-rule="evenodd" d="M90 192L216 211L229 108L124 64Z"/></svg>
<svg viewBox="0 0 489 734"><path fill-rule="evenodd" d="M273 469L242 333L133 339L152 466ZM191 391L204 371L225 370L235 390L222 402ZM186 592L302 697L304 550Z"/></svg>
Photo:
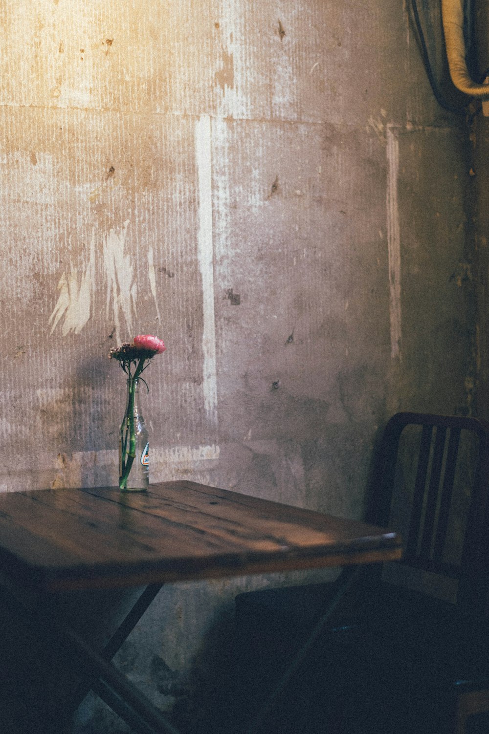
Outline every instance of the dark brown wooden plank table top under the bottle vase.
<svg viewBox="0 0 489 734"><path fill-rule="evenodd" d="M0 493L0 572L41 592L399 559L385 528L195 482Z"/></svg>

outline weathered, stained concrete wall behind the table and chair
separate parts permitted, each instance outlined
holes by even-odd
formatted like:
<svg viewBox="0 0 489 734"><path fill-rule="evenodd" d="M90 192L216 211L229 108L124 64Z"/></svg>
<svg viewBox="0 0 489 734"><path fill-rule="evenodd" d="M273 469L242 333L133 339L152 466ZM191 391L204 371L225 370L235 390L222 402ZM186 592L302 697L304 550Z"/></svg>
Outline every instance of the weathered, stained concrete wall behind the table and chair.
<svg viewBox="0 0 489 734"><path fill-rule="evenodd" d="M0 19L1 490L115 484L106 354L155 333L153 481L361 517L388 415L470 413L477 377L468 131L405 7L18 0ZM202 733L233 596L290 580L168 587L119 664ZM76 727L123 730L93 702Z"/></svg>

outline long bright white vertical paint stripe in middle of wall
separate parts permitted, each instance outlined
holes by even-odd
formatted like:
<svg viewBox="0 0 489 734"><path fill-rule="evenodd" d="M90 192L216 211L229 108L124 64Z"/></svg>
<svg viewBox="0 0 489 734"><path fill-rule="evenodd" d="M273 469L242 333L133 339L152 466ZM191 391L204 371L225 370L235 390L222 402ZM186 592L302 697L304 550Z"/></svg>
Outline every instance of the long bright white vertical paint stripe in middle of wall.
<svg viewBox="0 0 489 734"><path fill-rule="evenodd" d="M211 118L195 123L199 212L197 255L203 299L203 393L206 417L217 426L216 332L214 321L214 242L212 232Z"/></svg>

